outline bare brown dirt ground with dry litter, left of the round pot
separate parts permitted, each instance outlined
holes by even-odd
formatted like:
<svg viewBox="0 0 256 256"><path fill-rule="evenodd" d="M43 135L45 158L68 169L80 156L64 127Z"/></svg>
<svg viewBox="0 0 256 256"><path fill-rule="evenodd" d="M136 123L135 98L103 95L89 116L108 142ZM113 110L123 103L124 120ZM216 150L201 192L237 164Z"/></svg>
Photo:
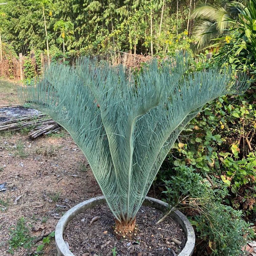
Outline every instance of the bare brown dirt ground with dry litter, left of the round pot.
<svg viewBox="0 0 256 256"><path fill-rule="evenodd" d="M0 83L0 105L17 104L16 85L3 86ZM7 189L1 191L1 184ZM22 216L29 236L39 237L54 231L66 210L98 195L101 190L84 155L64 130L34 141L26 131L0 133L0 256L11 255L10 233ZM13 252L35 255L35 250L20 247ZM43 251L57 255L54 239Z"/></svg>

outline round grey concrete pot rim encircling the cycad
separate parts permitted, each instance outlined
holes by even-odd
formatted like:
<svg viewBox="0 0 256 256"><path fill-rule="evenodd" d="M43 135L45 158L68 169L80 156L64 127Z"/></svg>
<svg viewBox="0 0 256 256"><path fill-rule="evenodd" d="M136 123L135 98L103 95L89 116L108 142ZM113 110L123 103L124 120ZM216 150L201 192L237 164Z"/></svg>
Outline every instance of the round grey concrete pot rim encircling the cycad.
<svg viewBox="0 0 256 256"><path fill-rule="evenodd" d="M75 256L73 253L70 252L66 242L63 239L63 232L68 222L70 222L70 220L72 220L78 213L85 211L86 209L92 208L96 205L104 203L106 203L104 196L94 197L80 204L77 204L64 214L64 216L58 221L55 229L55 244L57 247L58 256ZM168 208L167 203L151 197L146 197L143 202L143 205L154 207L163 212L166 211ZM179 253L179 256L191 256L195 246L194 230L186 216L182 214L179 210L175 210L171 214L171 216L174 220L180 223L187 238L186 245L183 248L183 250Z"/></svg>

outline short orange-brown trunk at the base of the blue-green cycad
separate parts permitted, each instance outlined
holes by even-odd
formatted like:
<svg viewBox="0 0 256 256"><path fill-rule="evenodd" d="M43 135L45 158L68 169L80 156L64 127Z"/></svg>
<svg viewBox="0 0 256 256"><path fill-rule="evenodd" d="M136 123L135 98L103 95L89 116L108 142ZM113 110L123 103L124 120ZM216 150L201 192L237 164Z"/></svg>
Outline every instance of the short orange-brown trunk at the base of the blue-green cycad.
<svg viewBox="0 0 256 256"><path fill-rule="evenodd" d="M136 219L130 223L125 221L119 222L116 220L114 233L118 239L132 239L134 238L139 229L137 228Z"/></svg>

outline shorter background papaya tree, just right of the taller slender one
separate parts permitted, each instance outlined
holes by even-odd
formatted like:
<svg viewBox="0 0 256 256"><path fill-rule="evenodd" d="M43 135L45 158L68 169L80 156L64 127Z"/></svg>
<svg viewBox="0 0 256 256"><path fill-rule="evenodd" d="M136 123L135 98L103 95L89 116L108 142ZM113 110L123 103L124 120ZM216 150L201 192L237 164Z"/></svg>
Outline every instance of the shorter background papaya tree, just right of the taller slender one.
<svg viewBox="0 0 256 256"><path fill-rule="evenodd" d="M53 30L59 34L57 42L62 43L63 61L65 61L65 41L74 39L74 24L71 21L59 20L54 24Z"/></svg>

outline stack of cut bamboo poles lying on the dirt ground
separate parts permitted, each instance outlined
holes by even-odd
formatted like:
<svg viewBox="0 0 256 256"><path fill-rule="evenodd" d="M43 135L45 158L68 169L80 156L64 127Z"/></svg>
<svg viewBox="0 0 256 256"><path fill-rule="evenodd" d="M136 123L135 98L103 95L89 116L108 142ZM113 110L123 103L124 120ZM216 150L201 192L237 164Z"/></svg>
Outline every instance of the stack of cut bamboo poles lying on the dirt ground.
<svg viewBox="0 0 256 256"><path fill-rule="evenodd" d="M27 115L22 118L11 119L5 122L0 122L0 131L6 130L21 130L23 128L33 127L28 133L29 137L35 139L40 135L47 135L61 129L52 119L47 118L45 114L40 115Z"/></svg>

